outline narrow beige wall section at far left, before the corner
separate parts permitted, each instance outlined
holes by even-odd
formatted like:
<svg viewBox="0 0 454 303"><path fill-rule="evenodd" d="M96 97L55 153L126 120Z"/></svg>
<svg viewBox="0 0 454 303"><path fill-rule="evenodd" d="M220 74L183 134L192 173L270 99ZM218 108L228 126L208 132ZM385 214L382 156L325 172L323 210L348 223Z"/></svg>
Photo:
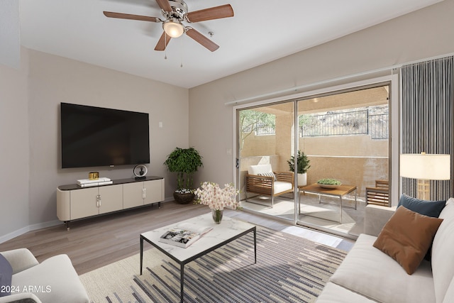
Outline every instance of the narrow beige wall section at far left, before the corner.
<svg viewBox="0 0 454 303"><path fill-rule="evenodd" d="M21 57L18 70L0 65L0 238L28 226L28 55Z"/></svg>

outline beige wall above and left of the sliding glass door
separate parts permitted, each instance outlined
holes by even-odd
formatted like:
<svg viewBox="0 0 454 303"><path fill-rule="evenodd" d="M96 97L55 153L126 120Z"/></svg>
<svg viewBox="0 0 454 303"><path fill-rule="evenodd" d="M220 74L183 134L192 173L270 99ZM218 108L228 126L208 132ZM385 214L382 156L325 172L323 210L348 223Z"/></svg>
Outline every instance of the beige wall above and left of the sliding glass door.
<svg viewBox="0 0 454 303"><path fill-rule="evenodd" d="M227 102L453 53L454 39L447 38L452 36L454 28L453 13L454 0L445 0L190 89L189 144L195 145L205 156L199 179L233 181L235 161L233 155L226 153L233 147L233 108L226 105ZM375 76L356 77L348 82L367 77ZM310 89L314 87L306 90Z"/></svg>

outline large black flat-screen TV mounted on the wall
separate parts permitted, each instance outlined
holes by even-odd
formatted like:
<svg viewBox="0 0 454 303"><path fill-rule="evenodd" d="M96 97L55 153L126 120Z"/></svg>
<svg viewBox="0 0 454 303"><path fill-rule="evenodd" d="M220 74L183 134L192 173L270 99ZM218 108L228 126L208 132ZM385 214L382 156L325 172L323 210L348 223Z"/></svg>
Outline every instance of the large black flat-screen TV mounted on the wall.
<svg viewBox="0 0 454 303"><path fill-rule="evenodd" d="M62 168L150 163L148 114L60 104Z"/></svg>

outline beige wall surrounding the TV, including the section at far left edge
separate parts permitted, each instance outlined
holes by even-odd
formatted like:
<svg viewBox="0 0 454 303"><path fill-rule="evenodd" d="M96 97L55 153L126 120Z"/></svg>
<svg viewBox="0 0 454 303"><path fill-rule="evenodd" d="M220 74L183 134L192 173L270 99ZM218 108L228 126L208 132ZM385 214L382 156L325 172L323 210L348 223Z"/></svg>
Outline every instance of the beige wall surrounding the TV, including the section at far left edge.
<svg viewBox="0 0 454 303"><path fill-rule="evenodd" d="M0 240L18 227L55 223L61 184L87 178L93 170L111 179L133 177L133 165L60 168L60 102L150 114L148 175L165 177L165 197L172 197L176 176L162 162L176 146L189 147L188 89L34 50L23 53L29 58L22 60L23 73L0 66L1 79L7 79L0 84L6 87L0 94L7 94L0 111L5 162L0 186L9 186L1 193L6 199L0 201L0 226L5 225ZM3 211L6 207L11 211Z"/></svg>

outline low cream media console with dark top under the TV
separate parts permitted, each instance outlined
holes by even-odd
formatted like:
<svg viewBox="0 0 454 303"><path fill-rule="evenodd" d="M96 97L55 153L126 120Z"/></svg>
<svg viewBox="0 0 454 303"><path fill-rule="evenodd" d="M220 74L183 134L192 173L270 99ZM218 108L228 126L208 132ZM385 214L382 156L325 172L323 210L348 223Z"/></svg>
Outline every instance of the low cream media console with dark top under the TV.
<svg viewBox="0 0 454 303"><path fill-rule="evenodd" d="M164 201L164 178L112 180L112 184L57 187L57 217L70 229L70 221Z"/></svg>

